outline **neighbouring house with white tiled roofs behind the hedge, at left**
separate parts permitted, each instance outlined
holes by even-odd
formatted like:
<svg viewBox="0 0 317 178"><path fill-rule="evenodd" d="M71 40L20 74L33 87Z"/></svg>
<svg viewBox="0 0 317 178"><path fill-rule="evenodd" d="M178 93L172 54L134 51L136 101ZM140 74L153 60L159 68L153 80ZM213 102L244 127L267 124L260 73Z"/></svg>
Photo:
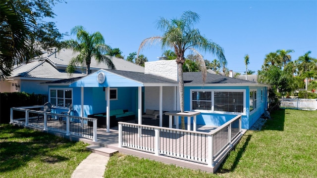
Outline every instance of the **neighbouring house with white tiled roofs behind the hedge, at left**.
<svg viewBox="0 0 317 178"><path fill-rule="evenodd" d="M78 66L73 74L65 72L72 57L78 52L71 49L61 49L54 52L46 52L31 60L28 64L20 64L13 68L11 76L0 81L0 92L28 92L37 94L48 94L47 86L38 83L55 81L58 79L69 79L86 76L86 67ZM112 62L117 70L144 72L144 67L136 65L124 59L112 57ZM106 64L97 63L93 57L91 60L91 71L107 69Z"/></svg>

